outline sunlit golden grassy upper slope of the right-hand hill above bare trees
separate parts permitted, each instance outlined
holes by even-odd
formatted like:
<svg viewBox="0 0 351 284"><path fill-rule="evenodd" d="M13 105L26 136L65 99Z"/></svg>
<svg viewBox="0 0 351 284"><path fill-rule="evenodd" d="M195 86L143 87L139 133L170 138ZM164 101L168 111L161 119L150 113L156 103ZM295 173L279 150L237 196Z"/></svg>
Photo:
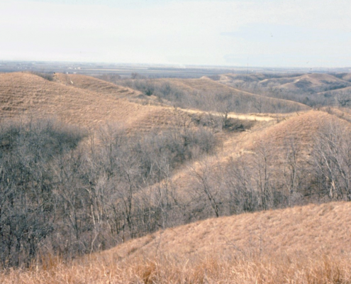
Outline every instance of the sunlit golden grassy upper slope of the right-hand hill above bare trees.
<svg viewBox="0 0 351 284"><path fill-rule="evenodd" d="M334 112L335 114L328 114L326 111L306 111L291 114L284 119L255 121L250 131L226 133L223 136L223 144L218 147L215 155L205 156L190 163L188 167L179 169L172 176L172 185L177 189L179 198L189 201L189 198L192 198L189 189L199 183L194 177L194 171L202 173L205 167L211 169L208 176L218 178L223 175L223 168L230 163L255 165L257 155L260 156L262 150L267 155L271 178L274 176L276 180L281 180L279 177L283 174L282 168L286 166L286 153L291 147L296 151L299 167L305 168L306 172L312 172L312 153L319 135L326 129L331 130L335 127L343 129L344 135L351 133L350 121L345 119L348 117L347 113L342 114L342 119L336 109ZM253 173L252 168L251 171ZM310 197L306 197L306 200L314 202L313 197L308 198Z"/></svg>

